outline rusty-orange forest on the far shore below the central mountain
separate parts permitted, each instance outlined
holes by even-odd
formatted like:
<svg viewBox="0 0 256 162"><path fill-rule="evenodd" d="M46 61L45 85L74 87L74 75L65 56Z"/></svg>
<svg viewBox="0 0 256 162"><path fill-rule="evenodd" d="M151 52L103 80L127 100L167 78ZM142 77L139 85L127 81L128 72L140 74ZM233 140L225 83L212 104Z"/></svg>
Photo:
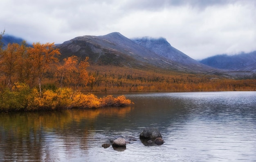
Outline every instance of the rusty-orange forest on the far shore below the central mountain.
<svg viewBox="0 0 256 162"><path fill-rule="evenodd" d="M229 79L220 75L175 71L91 66L94 91L255 91L256 79Z"/></svg>

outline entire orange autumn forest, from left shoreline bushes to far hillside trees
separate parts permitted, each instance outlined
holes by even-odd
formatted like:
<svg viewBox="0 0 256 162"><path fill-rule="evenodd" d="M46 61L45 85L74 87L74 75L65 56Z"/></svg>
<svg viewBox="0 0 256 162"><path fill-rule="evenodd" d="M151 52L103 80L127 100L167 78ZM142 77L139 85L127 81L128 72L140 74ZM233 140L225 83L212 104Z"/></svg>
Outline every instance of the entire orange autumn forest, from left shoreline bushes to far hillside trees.
<svg viewBox="0 0 256 162"><path fill-rule="evenodd" d="M2 34L0 36L2 37ZM0 37L0 38L1 38ZM124 96L98 98L95 91L255 91L255 79L163 69L89 65L73 55L60 60L54 43L0 48L0 110L38 110L128 105Z"/></svg>

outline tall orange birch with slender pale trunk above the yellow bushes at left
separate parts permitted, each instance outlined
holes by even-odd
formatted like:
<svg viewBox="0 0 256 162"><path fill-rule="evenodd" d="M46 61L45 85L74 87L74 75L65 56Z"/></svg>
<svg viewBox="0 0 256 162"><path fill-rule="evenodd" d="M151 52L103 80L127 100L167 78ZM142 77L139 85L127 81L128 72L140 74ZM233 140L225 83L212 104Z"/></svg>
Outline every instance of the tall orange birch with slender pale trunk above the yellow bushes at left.
<svg viewBox="0 0 256 162"><path fill-rule="evenodd" d="M49 70L50 65L58 62L59 49L54 48L54 43L40 44L33 43L33 47L28 49L28 53L34 67L34 74L38 78L39 93L42 94L41 82L44 74Z"/></svg>

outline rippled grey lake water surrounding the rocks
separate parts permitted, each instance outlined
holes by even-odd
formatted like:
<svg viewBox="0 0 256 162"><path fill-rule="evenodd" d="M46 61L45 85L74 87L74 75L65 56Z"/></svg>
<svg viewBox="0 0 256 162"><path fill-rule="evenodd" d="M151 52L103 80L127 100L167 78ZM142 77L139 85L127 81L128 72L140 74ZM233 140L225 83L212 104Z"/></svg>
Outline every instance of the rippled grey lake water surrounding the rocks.
<svg viewBox="0 0 256 162"><path fill-rule="evenodd" d="M125 95L135 104L0 113L0 161L256 161L256 92ZM142 143L145 127L158 128L165 143ZM120 136L126 149L101 147Z"/></svg>

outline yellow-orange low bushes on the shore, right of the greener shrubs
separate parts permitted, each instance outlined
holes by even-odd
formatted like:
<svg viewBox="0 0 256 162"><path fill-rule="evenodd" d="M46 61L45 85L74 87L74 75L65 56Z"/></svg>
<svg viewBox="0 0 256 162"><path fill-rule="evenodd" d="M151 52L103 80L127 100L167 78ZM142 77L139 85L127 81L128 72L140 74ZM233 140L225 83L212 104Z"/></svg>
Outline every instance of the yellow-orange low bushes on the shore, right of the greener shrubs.
<svg viewBox="0 0 256 162"><path fill-rule="evenodd" d="M106 106L126 106L132 102L124 95L118 96L117 98L112 95L108 95L103 98L98 98L92 93L83 94L76 92L72 89L63 88L56 91L44 90L42 95L39 94L38 90L33 89L29 97L29 110L34 109L63 109L63 108L98 108Z"/></svg>

